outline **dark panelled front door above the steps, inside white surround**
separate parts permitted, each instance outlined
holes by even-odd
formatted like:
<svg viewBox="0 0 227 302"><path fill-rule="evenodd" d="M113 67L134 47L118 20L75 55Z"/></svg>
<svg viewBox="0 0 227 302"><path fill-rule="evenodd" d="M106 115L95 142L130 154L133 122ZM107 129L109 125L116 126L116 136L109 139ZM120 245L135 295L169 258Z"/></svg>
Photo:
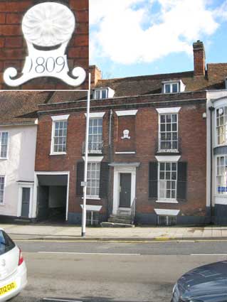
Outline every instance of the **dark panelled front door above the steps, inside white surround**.
<svg viewBox="0 0 227 302"><path fill-rule="evenodd" d="M131 207L131 173L120 173L119 207Z"/></svg>

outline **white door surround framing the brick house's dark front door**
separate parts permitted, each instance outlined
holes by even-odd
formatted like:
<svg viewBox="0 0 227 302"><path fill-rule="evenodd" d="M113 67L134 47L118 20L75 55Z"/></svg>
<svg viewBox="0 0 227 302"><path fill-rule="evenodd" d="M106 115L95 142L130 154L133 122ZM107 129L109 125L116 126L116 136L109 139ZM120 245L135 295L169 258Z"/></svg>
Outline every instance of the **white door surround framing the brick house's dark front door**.
<svg viewBox="0 0 227 302"><path fill-rule="evenodd" d="M136 193L136 166L114 166L114 183L113 183L113 201L112 201L112 214L117 215L120 201L120 173L131 173L131 200L132 206ZM122 209L122 207L121 207Z"/></svg>

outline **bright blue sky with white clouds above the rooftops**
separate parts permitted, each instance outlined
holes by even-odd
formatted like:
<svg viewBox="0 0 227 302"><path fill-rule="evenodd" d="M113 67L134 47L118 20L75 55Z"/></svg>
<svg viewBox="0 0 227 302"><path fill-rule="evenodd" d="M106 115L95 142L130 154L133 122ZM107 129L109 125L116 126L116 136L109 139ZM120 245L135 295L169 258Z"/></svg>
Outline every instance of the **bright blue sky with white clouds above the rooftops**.
<svg viewBox="0 0 227 302"><path fill-rule="evenodd" d="M102 78L194 69L192 44L206 63L227 63L227 0L90 0L90 65Z"/></svg>

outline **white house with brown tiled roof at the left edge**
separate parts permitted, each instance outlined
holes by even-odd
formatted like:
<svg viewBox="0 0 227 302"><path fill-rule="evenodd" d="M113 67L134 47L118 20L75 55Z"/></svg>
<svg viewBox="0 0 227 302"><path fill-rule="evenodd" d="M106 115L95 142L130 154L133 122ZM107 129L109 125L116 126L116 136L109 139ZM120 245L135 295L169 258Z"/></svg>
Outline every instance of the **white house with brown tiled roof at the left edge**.
<svg viewBox="0 0 227 302"><path fill-rule="evenodd" d="M43 92L0 92L0 216L36 217L33 208L37 104Z"/></svg>

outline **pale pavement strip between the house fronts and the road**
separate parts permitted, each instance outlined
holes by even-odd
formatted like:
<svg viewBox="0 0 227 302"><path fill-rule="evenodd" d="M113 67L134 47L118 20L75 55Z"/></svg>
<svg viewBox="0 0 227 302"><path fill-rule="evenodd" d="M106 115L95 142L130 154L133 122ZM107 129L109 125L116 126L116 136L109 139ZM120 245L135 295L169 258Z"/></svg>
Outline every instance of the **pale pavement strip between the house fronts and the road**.
<svg viewBox="0 0 227 302"><path fill-rule="evenodd" d="M81 227L75 225L0 224L12 239L49 240L103 240L103 241L151 241L151 240L227 240L227 227L86 227L81 237Z"/></svg>

